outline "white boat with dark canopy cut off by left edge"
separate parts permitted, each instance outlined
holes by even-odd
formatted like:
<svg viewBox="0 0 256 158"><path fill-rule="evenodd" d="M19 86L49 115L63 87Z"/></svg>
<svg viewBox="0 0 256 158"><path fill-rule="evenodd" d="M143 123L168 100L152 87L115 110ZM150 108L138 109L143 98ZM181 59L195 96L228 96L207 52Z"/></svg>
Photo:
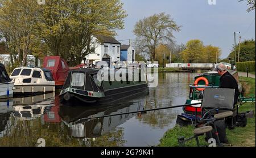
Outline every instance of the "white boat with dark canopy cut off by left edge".
<svg viewBox="0 0 256 158"><path fill-rule="evenodd" d="M9 75L5 70L5 66L0 63L0 99L13 97L13 86Z"/></svg>

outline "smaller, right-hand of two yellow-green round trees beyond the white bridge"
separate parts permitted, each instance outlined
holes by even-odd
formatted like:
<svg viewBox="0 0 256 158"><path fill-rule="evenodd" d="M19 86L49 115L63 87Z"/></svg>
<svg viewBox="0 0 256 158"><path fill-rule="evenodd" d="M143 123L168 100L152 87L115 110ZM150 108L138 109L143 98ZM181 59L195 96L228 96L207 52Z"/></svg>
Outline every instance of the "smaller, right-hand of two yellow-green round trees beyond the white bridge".
<svg viewBox="0 0 256 158"><path fill-rule="evenodd" d="M216 63L220 61L221 49L217 46L207 45L204 46L204 62L205 63Z"/></svg>

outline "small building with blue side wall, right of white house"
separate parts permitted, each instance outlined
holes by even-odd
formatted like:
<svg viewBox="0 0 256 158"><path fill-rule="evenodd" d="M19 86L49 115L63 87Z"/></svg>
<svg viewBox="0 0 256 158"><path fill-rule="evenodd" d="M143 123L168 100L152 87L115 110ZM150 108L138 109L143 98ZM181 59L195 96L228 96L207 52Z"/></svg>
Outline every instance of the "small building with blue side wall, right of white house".
<svg viewBox="0 0 256 158"><path fill-rule="evenodd" d="M135 50L131 45L121 45L121 61L127 61L128 63L134 63Z"/></svg>

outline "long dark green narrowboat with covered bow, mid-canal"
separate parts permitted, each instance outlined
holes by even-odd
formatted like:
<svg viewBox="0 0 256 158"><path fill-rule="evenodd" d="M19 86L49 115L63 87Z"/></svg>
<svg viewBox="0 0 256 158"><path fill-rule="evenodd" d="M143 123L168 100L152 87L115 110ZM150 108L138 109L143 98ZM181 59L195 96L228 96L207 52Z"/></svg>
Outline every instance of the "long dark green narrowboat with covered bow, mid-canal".
<svg viewBox="0 0 256 158"><path fill-rule="evenodd" d="M112 77L117 76L118 71L124 72L119 74L122 78L120 81ZM135 71L136 70L133 70L132 75L135 74ZM108 76L106 76L108 79L99 81L98 77L102 77L102 74L105 74L105 72L108 73ZM104 104L147 91L146 74L138 70L139 79L133 77L133 80L129 81L129 75L126 72L127 69L114 69L111 71L110 69L98 70L82 68L71 70L60 92L60 102L73 104L74 101L82 101L85 104ZM122 74L126 74L126 76L122 76ZM123 78L125 78L126 81Z"/></svg>

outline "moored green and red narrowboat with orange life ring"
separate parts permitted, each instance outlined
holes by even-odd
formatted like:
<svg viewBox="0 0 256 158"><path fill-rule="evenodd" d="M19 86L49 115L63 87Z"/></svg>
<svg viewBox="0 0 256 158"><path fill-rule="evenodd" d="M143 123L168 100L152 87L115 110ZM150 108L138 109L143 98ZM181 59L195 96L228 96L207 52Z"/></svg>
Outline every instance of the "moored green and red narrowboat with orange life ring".
<svg viewBox="0 0 256 158"><path fill-rule="evenodd" d="M242 84L238 80L238 72L235 70L228 70L230 74L234 76L238 83L238 89L242 94ZM185 104L196 104L193 106L185 106L183 111L187 114L200 114L201 113L201 102L203 99L203 92L205 88L218 88L220 84L221 76L218 75L217 71L209 71L200 74L195 77L195 82L189 86L189 99L186 100Z"/></svg>

